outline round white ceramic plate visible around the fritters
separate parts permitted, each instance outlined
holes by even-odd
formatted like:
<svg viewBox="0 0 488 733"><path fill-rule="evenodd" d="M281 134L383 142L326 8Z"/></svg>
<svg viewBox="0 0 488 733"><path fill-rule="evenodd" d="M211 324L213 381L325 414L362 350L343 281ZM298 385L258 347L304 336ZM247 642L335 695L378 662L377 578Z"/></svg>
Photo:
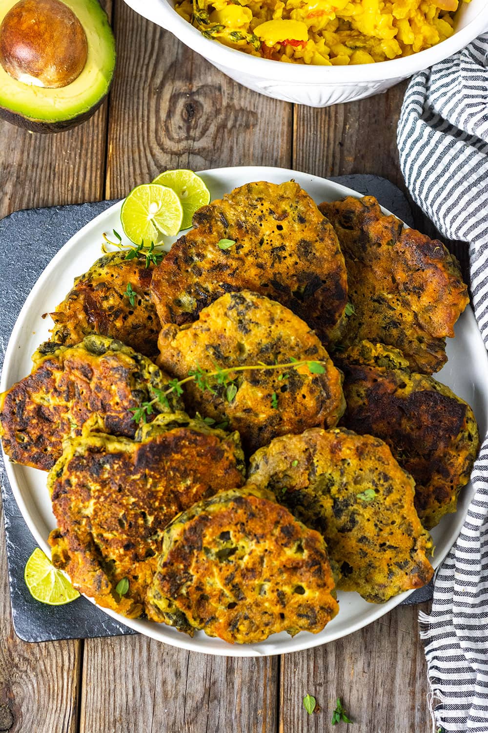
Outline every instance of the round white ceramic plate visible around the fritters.
<svg viewBox="0 0 488 733"><path fill-rule="evenodd" d="M315 202L334 201L342 196L361 196L337 183L324 178L311 176L282 168L220 168L201 173L203 180L211 191L212 198L220 198L233 188L249 181L267 180L271 183L282 183L294 178L307 191ZM5 355L4 369L1 375L0 390L9 388L13 383L31 371L31 354L42 341L48 339L50 319L42 318L42 314L53 311L72 287L75 276L86 272L92 263L101 256L100 245L102 233L111 232L113 228L120 230L121 204L116 204L94 218L83 229L75 234L63 248L53 257L45 268L40 279L27 298L20 311L15 328ZM388 213L388 212L387 212ZM168 244L170 242L168 241ZM480 433L487 432L488 389L486 383L487 352L479 334L473 312L468 308L457 323L456 338L448 339L448 363L438 374L438 379L451 387L459 397L472 405L478 420ZM46 475L35 468L9 463L4 456L7 475L20 512L29 529L37 539L40 547L50 556L48 534L56 527L56 520L50 508L50 500L46 489ZM435 567L446 556L449 548L459 534L463 517L473 494L471 485L465 487L459 500L455 515L443 518L440 525L432 531L436 545ZM230 655L234 657L257 657L262 655L297 652L301 649L316 647L328 641L353 633L383 614L391 611L408 594L392 598L387 603L375 605L366 603L359 594L339 592L340 611L338 616L319 634L301 632L294 638L286 633L275 634L260 644L232 645L219 639L210 638L203 632L195 633L189 638L165 625L143 620L126 619L119 614L102 611L118 619L125 625L140 633L151 636L158 641L165 641L174 647L192 649L207 654Z"/></svg>

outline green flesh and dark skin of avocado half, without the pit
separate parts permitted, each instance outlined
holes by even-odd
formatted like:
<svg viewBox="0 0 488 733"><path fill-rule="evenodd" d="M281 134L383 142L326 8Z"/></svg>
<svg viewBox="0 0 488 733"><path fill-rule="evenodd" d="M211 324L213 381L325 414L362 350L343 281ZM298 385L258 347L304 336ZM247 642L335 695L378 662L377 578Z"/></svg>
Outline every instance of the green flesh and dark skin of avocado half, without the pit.
<svg viewBox="0 0 488 733"><path fill-rule="evenodd" d="M15 4L15 1L0 0L0 24L6 12ZM7 81L12 87L12 96L9 100L6 100L0 92L0 119L4 119L12 125L17 125L19 128L29 130L33 133L59 133L64 130L71 130L82 122L85 122L105 101L113 79L113 72L116 65L115 39L105 10L102 9L98 0L63 1L75 12L75 15L78 16L85 29L89 43L89 58L87 59L85 69L83 69L78 79L68 86L61 87L57 91L60 92L59 96L64 99L67 96L67 92L69 94L70 87L73 87L75 84L79 86L83 76L86 75L86 100L83 100L83 95L80 95L79 92L77 92L79 101L77 100L76 103L72 103L72 100L68 97L65 116L63 114L63 101L61 100L56 110L56 115L53 115L56 119L49 119L49 114L46 114L45 111L38 108L36 104L36 97L40 95L40 88L35 87L35 91L31 95L32 107L29 108L29 90L31 87L27 84L21 84L16 80L12 80L0 64L0 86L4 86L5 89L5 85L1 82L7 76ZM86 16L86 14L90 16L91 27L87 27L83 23L83 16ZM91 43L91 40L93 40L93 43ZM102 48L102 51L100 51L100 48ZM89 75L95 66L98 67L96 85L97 93L99 94L98 97L94 97L93 76ZM46 90L49 95L52 95L53 91L53 89ZM18 107L20 104L16 102L19 96L23 99L23 111L19 110ZM10 107L11 100L12 106Z"/></svg>

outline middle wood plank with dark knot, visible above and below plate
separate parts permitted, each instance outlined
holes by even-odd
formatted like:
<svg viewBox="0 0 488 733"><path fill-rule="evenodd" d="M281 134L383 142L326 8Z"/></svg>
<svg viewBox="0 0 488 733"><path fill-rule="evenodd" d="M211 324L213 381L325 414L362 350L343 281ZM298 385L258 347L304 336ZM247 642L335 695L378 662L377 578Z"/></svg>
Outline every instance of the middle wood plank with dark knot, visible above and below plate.
<svg viewBox="0 0 488 733"><path fill-rule="evenodd" d="M290 165L290 105L234 84L121 2L116 34L107 198L167 168ZM142 637L86 641L80 733L274 733L277 668Z"/></svg>

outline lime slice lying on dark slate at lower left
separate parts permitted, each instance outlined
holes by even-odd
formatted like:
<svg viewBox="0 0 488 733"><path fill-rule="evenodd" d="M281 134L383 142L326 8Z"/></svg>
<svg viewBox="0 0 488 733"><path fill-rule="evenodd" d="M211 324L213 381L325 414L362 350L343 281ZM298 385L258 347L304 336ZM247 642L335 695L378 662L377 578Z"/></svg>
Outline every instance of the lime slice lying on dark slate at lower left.
<svg viewBox="0 0 488 733"><path fill-rule="evenodd" d="M64 605L80 595L39 548L34 550L26 562L23 578L31 596L41 603Z"/></svg>

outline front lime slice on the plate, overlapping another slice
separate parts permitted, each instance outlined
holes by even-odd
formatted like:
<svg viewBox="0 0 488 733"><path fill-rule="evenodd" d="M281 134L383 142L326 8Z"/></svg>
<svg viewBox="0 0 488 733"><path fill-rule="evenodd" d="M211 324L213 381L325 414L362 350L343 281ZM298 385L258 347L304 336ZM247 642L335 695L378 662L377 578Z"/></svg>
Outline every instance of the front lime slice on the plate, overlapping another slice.
<svg viewBox="0 0 488 733"><path fill-rule="evenodd" d="M164 185L143 183L130 192L122 204L122 227L135 244L159 244L163 235L176 235L181 227L183 209L179 197Z"/></svg>

